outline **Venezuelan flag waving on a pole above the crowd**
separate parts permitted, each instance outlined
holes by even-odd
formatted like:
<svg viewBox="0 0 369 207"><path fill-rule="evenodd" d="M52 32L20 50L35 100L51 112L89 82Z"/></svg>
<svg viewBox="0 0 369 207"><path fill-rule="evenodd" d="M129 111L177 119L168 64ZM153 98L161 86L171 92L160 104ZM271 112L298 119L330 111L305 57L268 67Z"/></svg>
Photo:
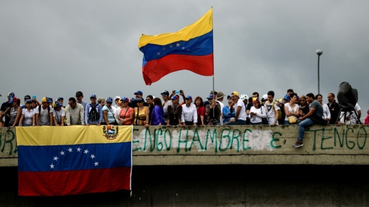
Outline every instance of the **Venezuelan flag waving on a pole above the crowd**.
<svg viewBox="0 0 369 207"><path fill-rule="evenodd" d="M144 53L142 75L146 85L178 70L212 76L213 8L195 23L175 33L142 35L138 48Z"/></svg>

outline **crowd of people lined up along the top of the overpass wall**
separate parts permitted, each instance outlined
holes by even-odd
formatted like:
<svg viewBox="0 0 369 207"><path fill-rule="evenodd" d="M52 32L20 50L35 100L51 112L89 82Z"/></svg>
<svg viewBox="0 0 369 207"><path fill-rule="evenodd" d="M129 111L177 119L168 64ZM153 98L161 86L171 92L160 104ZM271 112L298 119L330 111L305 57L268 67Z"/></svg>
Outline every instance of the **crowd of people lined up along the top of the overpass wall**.
<svg viewBox="0 0 369 207"><path fill-rule="evenodd" d="M90 102L84 102L83 93L77 91L75 97L44 97L39 102L35 96L24 97L24 105L8 93L8 101L1 105L0 127L11 126L70 126L70 125L141 125L156 126L196 126L196 125L299 125L299 137L293 147L302 146L304 127L313 124L358 124L361 108L356 103L355 110L340 112L335 95L329 93L328 103L323 103L323 95L312 93L298 96L292 89L283 98L275 99L273 91L259 98L237 91L225 95L221 91L210 91L204 101L193 99L180 91L163 91L161 98L152 95L143 98L137 91L134 98L97 97L90 95ZM0 95L1 96L1 95ZM182 97L182 102L180 98ZM223 103L224 98L227 103ZM114 103L113 103L114 102ZM113 105L114 104L114 105ZM368 116L365 124L369 124ZM3 118L5 118L3 120Z"/></svg>

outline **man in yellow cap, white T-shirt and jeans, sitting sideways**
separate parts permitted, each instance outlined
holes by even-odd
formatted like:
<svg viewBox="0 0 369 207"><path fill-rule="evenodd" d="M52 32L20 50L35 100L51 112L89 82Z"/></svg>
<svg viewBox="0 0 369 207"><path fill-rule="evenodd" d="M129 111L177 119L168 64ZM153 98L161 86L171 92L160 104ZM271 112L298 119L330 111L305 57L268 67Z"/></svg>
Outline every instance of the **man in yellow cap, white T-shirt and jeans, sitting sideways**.
<svg viewBox="0 0 369 207"><path fill-rule="evenodd" d="M239 94L237 91L234 91L231 94L231 98L233 100L231 104L231 113L235 110L236 116L235 119L230 120L226 125L245 125L246 124L246 107L244 102L239 99Z"/></svg>

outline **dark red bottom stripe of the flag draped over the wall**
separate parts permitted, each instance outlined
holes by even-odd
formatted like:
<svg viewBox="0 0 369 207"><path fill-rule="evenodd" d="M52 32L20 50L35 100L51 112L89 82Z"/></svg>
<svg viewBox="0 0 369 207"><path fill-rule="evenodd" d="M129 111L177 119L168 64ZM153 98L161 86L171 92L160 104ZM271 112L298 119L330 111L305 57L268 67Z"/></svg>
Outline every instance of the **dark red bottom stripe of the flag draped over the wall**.
<svg viewBox="0 0 369 207"><path fill-rule="evenodd" d="M130 190L131 167L18 172L19 196L62 196Z"/></svg>

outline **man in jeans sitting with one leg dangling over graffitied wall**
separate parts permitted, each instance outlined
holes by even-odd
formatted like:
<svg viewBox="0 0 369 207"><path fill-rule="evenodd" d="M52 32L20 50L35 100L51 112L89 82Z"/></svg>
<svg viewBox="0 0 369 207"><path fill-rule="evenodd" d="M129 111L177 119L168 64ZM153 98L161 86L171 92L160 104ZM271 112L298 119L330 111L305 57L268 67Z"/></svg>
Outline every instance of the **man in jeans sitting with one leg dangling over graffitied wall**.
<svg viewBox="0 0 369 207"><path fill-rule="evenodd" d="M314 94L310 93L306 95L306 101L310 104L310 110L309 113L307 113L305 116L303 117L299 117L299 120L303 120L302 122L300 122L299 124L299 137L297 138L297 142L292 145L293 147L301 147L303 146L302 143L302 137L304 136L305 133L305 129L304 127L308 127L311 126L313 124L317 124L313 121L316 119L323 119L321 117L323 117L323 106L317 101L315 100Z"/></svg>

